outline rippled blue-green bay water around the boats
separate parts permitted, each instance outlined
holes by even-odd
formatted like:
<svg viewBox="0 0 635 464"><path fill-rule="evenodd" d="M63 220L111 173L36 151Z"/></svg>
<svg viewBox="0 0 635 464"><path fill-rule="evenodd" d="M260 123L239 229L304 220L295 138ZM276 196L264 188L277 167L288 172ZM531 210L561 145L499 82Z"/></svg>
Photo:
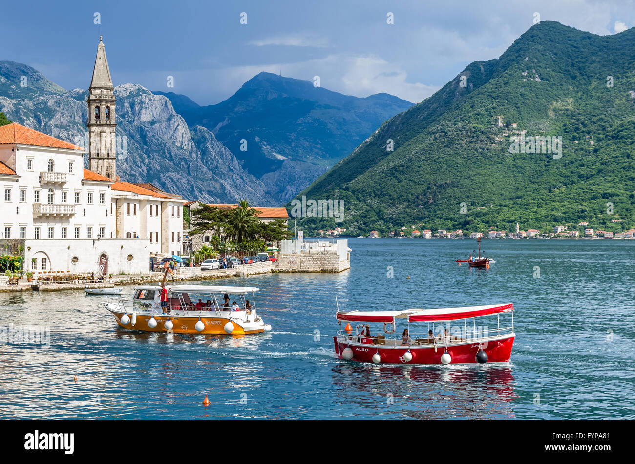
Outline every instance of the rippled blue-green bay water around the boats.
<svg viewBox="0 0 635 464"><path fill-rule="evenodd" d="M491 269L453 262L475 245L351 239L344 273L225 280L262 289L258 313L273 330L243 338L128 332L83 292L0 293L0 326L50 327L48 348L3 345L0 416L635 418L635 242L484 240ZM340 361L335 295L342 310L512 302L512 361Z"/></svg>

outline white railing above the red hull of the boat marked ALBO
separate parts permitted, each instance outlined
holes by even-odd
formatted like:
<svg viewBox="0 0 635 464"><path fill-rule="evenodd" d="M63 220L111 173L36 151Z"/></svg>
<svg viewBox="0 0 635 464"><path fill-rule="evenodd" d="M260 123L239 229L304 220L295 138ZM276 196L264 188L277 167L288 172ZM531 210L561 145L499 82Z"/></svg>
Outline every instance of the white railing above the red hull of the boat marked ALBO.
<svg viewBox="0 0 635 464"><path fill-rule="evenodd" d="M354 331L347 332L345 330L338 330L337 337L344 338L345 340L349 340L353 343L358 344L368 344L368 340L372 341L373 345L387 345L391 346L391 344L387 344L386 342L389 340L394 340L395 346L437 346L437 347L446 347L451 345L463 345L465 343L483 343L488 340L493 340L495 338L512 335L514 333L513 327L500 327L493 329L482 329L482 330L469 330L466 332L460 332L457 334L451 334L445 337L444 335L436 334L436 336L432 337L432 340L429 340L429 335L427 332L424 333L412 333L410 332L410 343L408 345L401 345L402 338L401 337L385 337L382 334L373 335L371 333L368 335L358 335ZM364 343L364 338L366 338L366 343ZM431 343L432 342L432 343Z"/></svg>

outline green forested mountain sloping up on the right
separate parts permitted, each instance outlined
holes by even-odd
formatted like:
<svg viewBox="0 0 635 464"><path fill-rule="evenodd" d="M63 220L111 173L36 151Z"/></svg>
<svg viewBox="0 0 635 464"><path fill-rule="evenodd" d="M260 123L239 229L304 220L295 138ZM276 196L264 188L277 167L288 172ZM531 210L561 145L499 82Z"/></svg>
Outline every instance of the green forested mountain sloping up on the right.
<svg viewBox="0 0 635 464"><path fill-rule="evenodd" d="M525 141L561 137L561 157L510 153L521 131ZM631 157L635 28L599 36L541 22L497 60L471 63L384 122L298 195L344 200L343 222L307 218L299 225L358 235L401 226L486 231L585 221L620 231L635 226Z"/></svg>

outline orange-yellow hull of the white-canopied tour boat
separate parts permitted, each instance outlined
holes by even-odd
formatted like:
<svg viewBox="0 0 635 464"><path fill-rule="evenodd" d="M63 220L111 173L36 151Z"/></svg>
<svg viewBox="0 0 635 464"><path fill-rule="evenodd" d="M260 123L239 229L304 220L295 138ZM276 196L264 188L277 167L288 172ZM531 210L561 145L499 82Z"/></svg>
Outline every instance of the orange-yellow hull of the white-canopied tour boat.
<svg viewBox="0 0 635 464"><path fill-rule="evenodd" d="M137 320L135 325L132 325L132 314L128 314L130 321L124 325L121 322L121 317L124 313L117 313L110 310L110 313L117 321L117 325L128 330L140 330L142 332L170 332L170 333L202 333L204 335L249 335L251 333L262 333L271 330L267 325L255 325L253 323L245 324L243 321L237 319L229 319L218 316L200 316L201 322L204 324L203 330L199 332L196 330L196 323L199 321L199 316L176 316L176 315L156 315L156 314L137 314ZM157 325L154 328L149 326L150 318L154 317L157 321ZM170 319L173 324L171 330L166 330L164 324ZM225 325L227 321L230 321L234 326L234 330L228 333L225 332Z"/></svg>

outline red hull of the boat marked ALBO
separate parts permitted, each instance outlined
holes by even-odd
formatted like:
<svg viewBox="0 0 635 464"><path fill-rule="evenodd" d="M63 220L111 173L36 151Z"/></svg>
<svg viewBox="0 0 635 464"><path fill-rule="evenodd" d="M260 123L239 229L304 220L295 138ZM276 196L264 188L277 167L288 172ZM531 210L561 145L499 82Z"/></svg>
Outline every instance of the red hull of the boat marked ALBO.
<svg viewBox="0 0 635 464"><path fill-rule="evenodd" d="M487 354L487 363L505 363L509 362L514 345L515 335L509 335L496 340L487 340L486 343L471 342L465 344L450 345L447 351L451 356L450 364L478 364L476 361L476 353L481 349ZM338 358L342 357L342 352L347 347L353 352L351 361L359 361L362 363L373 363L373 355L378 353L381 361L377 364L425 364L438 365L441 363L441 355L445 352L445 347L437 346L436 349L431 345L412 345L410 347L383 347L382 345L359 345L349 344L342 337L333 337L335 342L335 354ZM403 355L410 350L412 359L404 361Z"/></svg>

